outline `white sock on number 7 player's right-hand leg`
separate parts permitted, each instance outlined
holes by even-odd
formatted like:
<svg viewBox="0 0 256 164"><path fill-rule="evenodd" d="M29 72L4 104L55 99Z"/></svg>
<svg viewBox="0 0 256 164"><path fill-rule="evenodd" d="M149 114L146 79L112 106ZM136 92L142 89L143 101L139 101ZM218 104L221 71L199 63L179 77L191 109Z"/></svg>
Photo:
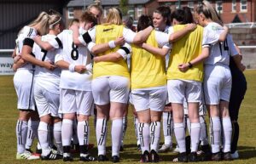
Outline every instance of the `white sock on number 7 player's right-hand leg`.
<svg viewBox="0 0 256 164"><path fill-rule="evenodd" d="M56 122L54 124L54 138L58 149L58 153L63 153L62 141L61 141L61 126L62 122Z"/></svg>

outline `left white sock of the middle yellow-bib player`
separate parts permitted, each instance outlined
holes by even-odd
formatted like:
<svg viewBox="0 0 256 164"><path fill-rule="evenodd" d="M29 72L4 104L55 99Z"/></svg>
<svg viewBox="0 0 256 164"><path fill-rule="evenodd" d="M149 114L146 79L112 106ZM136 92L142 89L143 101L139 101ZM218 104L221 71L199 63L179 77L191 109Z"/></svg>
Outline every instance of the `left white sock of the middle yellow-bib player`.
<svg viewBox="0 0 256 164"><path fill-rule="evenodd" d="M138 123L138 134L141 143L142 153L148 150L150 143L149 123Z"/></svg>

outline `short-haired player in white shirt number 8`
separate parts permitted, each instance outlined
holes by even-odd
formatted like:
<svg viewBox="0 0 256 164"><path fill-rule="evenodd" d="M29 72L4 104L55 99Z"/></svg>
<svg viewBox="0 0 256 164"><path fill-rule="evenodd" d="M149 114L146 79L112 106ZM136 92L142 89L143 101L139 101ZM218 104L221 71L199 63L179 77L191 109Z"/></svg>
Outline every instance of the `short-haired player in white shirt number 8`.
<svg viewBox="0 0 256 164"><path fill-rule="evenodd" d="M96 18L89 12L81 16L84 30L96 25ZM60 54L55 57L55 64L61 67L61 112L63 161L72 161L70 144L73 134L73 120L77 115L78 138L80 147L80 161L95 161L88 153L90 138L89 116L93 110L93 97L91 93L92 64L90 52L84 46L73 43L73 31L65 30L58 35L63 44ZM52 43L51 45L54 45Z"/></svg>

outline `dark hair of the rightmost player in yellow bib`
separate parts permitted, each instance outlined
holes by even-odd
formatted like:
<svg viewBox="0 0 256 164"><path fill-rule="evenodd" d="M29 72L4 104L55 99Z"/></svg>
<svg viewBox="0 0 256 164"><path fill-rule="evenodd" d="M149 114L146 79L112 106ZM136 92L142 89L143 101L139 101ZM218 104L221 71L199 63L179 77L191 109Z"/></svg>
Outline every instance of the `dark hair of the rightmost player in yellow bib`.
<svg viewBox="0 0 256 164"><path fill-rule="evenodd" d="M171 18L171 20L175 19L182 25L194 22L193 15L189 7L183 7L183 9L175 10L172 12Z"/></svg>

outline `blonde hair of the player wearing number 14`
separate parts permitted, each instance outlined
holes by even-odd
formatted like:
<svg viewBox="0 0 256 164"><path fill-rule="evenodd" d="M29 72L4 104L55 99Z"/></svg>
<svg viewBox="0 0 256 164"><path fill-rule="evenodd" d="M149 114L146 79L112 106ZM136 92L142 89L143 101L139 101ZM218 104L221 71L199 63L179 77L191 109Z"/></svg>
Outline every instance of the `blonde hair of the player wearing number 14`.
<svg viewBox="0 0 256 164"><path fill-rule="evenodd" d="M211 19L212 21L218 23L219 25L223 26L223 22L220 19L217 11L215 8L212 7L212 4L208 1L204 0L198 8L196 8L197 14L204 14L207 19Z"/></svg>

